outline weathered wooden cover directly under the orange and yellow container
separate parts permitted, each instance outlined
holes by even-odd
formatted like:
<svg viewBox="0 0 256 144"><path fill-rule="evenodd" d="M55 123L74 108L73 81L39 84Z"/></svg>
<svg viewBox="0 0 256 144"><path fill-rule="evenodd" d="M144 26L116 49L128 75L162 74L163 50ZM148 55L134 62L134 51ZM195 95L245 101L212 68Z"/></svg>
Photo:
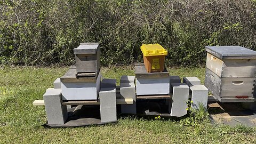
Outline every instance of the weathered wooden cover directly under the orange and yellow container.
<svg viewBox="0 0 256 144"><path fill-rule="evenodd" d="M170 77L169 71L164 67L164 71L162 73L148 73L145 65L143 63L135 63L135 77L136 78L163 78Z"/></svg>

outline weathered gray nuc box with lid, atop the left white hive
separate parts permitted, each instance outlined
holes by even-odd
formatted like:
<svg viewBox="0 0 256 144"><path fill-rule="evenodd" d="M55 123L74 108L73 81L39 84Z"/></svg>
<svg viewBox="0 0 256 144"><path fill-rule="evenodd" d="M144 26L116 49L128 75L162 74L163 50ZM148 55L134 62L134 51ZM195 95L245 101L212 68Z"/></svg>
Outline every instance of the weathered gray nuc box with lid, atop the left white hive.
<svg viewBox="0 0 256 144"><path fill-rule="evenodd" d="M97 73L100 69L99 43L80 43L74 49L77 73Z"/></svg>

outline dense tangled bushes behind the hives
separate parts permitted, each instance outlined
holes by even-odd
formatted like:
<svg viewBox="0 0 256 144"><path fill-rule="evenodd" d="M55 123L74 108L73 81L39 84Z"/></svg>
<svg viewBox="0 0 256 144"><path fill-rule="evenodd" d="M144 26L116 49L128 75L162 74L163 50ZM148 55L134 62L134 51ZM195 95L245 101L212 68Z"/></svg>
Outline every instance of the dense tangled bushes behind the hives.
<svg viewBox="0 0 256 144"><path fill-rule="evenodd" d="M101 63L142 61L159 43L171 66L205 62L205 45L256 49L255 0L0 1L0 62L71 65L80 42L99 42Z"/></svg>

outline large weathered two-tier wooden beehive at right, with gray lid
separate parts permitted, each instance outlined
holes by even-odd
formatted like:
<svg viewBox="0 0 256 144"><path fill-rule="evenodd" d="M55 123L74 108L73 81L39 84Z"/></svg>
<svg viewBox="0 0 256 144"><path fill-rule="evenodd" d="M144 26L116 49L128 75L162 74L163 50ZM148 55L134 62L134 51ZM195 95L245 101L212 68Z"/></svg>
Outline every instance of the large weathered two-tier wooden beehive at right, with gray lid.
<svg viewBox="0 0 256 144"><path fill-rule="evenodd" d="M205 86L220 102L252 102L256 52L241 46L206 46Z"/></svg>

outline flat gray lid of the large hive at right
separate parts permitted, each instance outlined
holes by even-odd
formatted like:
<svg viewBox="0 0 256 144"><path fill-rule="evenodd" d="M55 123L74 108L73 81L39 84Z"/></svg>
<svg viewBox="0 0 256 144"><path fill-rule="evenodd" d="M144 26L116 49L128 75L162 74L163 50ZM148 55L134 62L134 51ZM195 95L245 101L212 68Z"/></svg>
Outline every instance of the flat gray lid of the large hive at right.
<svg viewBox="0 0 256 144"><path fill-rule="evenodd" d="M256 51L242 46L205 46L205 51L219 59L256 59Z"/></svg>

